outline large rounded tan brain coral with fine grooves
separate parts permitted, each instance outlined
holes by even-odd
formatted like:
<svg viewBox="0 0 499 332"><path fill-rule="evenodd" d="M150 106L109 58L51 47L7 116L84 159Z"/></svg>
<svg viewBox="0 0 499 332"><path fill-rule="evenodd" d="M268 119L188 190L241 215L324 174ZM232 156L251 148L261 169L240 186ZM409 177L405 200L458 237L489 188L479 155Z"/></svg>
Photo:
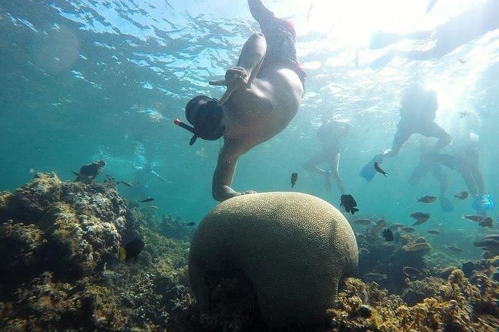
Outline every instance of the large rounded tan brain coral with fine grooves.
<svg viewBox="0 0 499 332"><path fill-rule="evenodd" d="M344 216L315 196L268 192L220 203L201 221L189 277L202 311L213 299L209 275L243 273L268 326L315 324L353 273L358 249Z"/></svg>

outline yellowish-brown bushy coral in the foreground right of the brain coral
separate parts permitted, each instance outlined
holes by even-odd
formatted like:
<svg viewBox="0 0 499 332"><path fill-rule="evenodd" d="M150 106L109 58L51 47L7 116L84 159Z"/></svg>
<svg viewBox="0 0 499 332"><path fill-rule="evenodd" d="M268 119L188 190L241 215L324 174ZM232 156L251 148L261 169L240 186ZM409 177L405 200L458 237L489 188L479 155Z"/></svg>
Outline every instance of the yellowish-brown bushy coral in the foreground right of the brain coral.
<svg viewBox="0 0 499 332"><path fill-rule="evenodd" d="M446 281L430 280L428 297L409 306L375 284L347 279L329 310L331 331L497 331L499 286L487 277L471 284L461 270ZM421 286L421 282L412 285ZM366 310L366 307L369 310Z"/></svg>

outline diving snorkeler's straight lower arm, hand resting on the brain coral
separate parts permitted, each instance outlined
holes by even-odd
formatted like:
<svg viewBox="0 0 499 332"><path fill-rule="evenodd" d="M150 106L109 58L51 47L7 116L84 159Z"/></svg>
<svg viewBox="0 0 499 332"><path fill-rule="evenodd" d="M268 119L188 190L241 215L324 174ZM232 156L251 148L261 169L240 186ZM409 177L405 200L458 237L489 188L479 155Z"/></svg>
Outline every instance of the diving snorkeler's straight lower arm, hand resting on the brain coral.
<svg viewBox="0 0 499 332"><path fill-rule="evenodd" d="M254 193L251 190L242 193L236 192L231 188L237 160L239 156L251 148L252 146L243 145L235 140L225 140L222 149L218 153L217 165L213 173L213 183L211 184L211 196L213 196L213 199L221 202L234 196Z"/></svg>

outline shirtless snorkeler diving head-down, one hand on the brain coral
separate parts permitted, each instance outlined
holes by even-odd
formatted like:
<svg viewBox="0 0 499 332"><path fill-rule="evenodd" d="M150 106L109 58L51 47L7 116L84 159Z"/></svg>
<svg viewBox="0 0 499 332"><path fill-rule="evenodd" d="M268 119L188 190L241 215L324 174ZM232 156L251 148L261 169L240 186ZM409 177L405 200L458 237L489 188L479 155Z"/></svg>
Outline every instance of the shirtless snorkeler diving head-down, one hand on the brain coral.
<svg viewBox="0 0 499 332"><path fill-rule="evenodd" d="M262 33L247 39L237 65L227 70L225 79L209 82L227 86L227 91L220 100L207 95L189 100L186 118L192 126L175 120L194 134L191 145L198 137L224 138L211 187L217 201L254 193L231 188L238 158L286 128L304 93L306 74L297 59L292 23L275 17L261 0L248 0L248 4Z"/></svg>

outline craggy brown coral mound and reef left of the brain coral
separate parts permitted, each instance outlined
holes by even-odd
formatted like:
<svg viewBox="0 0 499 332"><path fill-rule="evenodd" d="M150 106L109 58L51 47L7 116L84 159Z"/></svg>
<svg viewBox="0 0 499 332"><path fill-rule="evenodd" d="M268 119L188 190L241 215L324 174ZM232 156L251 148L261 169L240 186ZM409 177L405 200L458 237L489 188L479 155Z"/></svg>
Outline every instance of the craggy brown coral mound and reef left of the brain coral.
<svg viewBox="0 0 499 332"><path fill-rule="evenodd" d="M189 243L142 219L110 183L36 174L1 192L0 330L157 331L189 315ZM119 246L139 234L138 261L119 264Z"/></svg>

